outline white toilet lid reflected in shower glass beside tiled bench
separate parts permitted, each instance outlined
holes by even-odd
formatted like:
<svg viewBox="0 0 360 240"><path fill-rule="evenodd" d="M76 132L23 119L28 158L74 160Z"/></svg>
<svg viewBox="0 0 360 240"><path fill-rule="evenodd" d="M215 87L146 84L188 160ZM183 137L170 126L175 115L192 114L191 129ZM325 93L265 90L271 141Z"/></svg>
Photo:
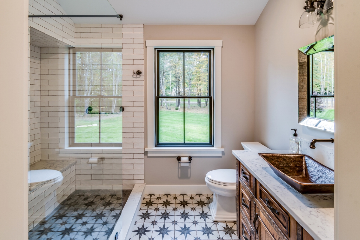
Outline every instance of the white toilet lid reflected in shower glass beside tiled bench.
<svg viewBox="0 0 360 240"><path fill-rule="evenodd" d="M39 169L28 171L27 179L28 184L30 185L30 191L33 191L51 180L54 180L54 184L62 181L63 175L60 171L57 170Z"/></svg>

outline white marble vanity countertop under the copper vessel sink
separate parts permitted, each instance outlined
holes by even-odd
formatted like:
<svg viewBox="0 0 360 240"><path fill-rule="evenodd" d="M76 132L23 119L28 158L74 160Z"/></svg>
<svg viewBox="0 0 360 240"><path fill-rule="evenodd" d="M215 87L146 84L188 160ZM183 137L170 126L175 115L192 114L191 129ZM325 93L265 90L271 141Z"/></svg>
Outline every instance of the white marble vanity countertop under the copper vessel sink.
<svg viewBox="0 0 360 240"><path fill-rule="evenodd" d="M261 151L289 153L289 151ZM301 194L275 175L258 152L233 150L234 156L315 239L334 239L334 195Z"/></svg>

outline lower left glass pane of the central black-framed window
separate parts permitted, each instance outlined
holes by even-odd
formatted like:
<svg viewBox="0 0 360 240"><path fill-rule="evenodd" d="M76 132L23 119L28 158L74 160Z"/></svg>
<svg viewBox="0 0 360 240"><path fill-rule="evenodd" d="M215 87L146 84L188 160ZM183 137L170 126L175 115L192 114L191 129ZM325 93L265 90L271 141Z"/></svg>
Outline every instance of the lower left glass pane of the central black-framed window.
<svg viewBox="0 0 360 240"><path fill-rule="evenodd" d="M184 142L183 108L183 99L159 99L159 142Z"/></svg>

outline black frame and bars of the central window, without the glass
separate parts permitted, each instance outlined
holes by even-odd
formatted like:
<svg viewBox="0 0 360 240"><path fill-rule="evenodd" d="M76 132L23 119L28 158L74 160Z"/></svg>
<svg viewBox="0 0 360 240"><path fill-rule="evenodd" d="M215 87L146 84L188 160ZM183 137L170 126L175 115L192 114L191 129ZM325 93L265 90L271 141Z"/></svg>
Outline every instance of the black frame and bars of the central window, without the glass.
<svg viewBox="0 0 360 240"><path fill-rule="evenodd" d="M213 48L155 48L155 146L156 147L163 147L163 146L206 146L211 147L214 146L214 49ZM159 86L159 53L161 52L174 52L184 53L183 58L183 96L160 96L160 86ZM208 96L186 96L185 95L185 52L208 52L209 53L209 90ZM183 107L183 114L184 114L184 140L183 143L160 143L159 142L159 99L161 98L171 98L171 99L183 99L184 107ZM185 143L185 99L209 99L209 143Z"/></svg>

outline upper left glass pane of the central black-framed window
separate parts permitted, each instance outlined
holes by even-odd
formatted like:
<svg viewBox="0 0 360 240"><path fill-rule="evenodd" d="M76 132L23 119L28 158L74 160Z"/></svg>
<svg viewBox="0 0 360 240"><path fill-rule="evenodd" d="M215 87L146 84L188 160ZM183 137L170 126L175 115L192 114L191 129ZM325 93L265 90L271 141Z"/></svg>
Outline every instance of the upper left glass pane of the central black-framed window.
<svg viewBox="0 0 360 240"><path fill-rule="evenodd" d="M159 53L159 96L184 95L184 53Z"/></svg>

